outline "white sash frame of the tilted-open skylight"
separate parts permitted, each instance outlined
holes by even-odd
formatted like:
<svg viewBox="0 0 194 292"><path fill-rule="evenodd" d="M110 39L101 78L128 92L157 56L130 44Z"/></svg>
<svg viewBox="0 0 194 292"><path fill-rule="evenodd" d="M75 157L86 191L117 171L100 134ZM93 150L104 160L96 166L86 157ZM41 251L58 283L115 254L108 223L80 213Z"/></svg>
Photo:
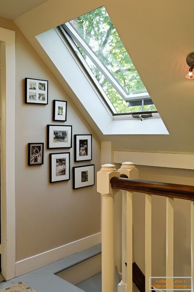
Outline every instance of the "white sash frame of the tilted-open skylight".
<svg viewBox="0 0 194 292"><path fill-rule="evenodd" d="M85 40L81 37L81 35L74 29L70 22L62 24L60 27L68 32L70 37L81 47L82 51L92 60L94 65L102 72L102 74L106 77L106 79L110 82L110 84L115 88L115 90L120 94L120 96L125 100L129 101L131 98L140 97L141 99L150 97L148 92L145 93L136 93L136 94L127 94L120 83L115 79L115 77L109 72L106 66L101 62L98 56L94 53L94 51L89 47L89 45L85 42ZM82 58L83 59L83 58ZM82 60L81 60L82 62ZM151 97L150 97L151 98Z"/></svg>

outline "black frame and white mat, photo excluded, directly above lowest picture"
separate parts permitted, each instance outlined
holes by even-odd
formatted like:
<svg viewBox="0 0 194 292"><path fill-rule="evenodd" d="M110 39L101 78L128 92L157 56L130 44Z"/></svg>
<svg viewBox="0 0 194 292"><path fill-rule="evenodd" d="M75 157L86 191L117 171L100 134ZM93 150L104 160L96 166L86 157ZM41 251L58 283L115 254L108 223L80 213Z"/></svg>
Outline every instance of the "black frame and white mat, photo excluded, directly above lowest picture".
<svg viewBox="0 0 194 292"><path fill-rule="evenodd" d="M75 139L75 157L74 161L92 160L92 135L74 135ZM87 141L87 155L80 155L80 141Z"/></svg>

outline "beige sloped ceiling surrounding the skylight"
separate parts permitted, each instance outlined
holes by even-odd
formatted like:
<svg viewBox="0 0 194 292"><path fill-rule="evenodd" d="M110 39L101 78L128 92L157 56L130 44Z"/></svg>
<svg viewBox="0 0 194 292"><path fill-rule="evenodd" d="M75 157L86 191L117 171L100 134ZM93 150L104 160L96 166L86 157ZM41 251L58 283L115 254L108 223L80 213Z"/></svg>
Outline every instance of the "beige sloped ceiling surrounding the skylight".
<svg viewBox="0 0 194 292"><path fill-rule="evenodd" d="M115 149L194 153L194 80L186 56L194 51L193 2L188 0L49 0L15 19L44 60L35 36L104 5L139 72L169 135L102 135ZM64 84L71 96L71 90ZM130 122L130 121L127 121ZM142 121L143 123L144 121Z"/></svg>

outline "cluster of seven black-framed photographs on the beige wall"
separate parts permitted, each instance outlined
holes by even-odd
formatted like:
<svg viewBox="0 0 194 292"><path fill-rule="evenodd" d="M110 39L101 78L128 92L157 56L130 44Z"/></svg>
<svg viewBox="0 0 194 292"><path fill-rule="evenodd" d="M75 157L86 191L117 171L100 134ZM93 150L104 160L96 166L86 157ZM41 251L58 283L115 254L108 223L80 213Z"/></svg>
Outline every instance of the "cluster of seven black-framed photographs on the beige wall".
<svg viewBox="0 0 194 292"><path fill-rule="evenodd" d="M25 78L25 103L48 105L48 80ZM38 105L37 105L38 106ZM59 124L47 125L47 149L49 153L50 183L70 180L70 152L57 153L58 149L72 148L74 135L74 162L80 164L92 160L92 135L75 133L72 125L66 125L67 101L53 100L53 121ZM46 141L28 143L28 165L44 164ZM55 150L55 151L54 151ZM68 150L67 150L68 151ZM72 167L73 189L94 185L94 164Z"/></svg>

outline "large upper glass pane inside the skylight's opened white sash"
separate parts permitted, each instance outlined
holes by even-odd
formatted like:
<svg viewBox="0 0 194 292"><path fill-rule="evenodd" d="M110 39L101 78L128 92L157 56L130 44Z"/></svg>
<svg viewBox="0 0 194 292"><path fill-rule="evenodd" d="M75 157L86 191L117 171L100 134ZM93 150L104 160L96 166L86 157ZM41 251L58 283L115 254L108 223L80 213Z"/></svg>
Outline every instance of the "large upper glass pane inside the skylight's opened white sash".
<svg viewBox="0 0 194 292"><path fill-rule="evenodd" d="M147 90L102 6L70 21L127 94Z"/></svg>

